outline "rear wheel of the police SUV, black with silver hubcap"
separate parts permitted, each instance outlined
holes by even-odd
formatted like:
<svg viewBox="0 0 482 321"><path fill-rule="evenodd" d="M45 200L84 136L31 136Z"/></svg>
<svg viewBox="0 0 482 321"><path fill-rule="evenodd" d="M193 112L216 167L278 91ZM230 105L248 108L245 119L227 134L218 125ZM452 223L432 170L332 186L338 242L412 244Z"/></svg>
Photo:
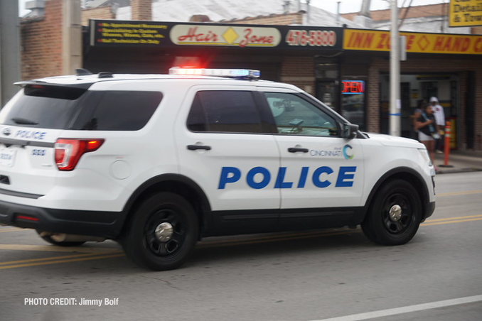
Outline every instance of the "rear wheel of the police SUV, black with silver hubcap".
<svg viewBox="0 0 482 321"><path fill-rule="evenodd" d="M166 271L191 256L197 238L198 219L189 202L171 192L159 192L134 211L122 247L137 265Z"/></svg>

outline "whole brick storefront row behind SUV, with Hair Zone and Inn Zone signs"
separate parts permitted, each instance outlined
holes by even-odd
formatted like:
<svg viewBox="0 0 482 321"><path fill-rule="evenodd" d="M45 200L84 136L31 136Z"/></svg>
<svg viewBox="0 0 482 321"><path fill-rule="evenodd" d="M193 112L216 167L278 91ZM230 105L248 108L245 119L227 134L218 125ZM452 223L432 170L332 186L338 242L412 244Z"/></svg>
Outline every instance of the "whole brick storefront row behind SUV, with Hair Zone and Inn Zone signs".
<svg viewBox="0 0 482 321"><path fill-rule="evenodd" d="M82 27L79 67L124 73L165 73L188 65L257 69L263 79L313 94L363 131L388 133L387 31L306 26L304 11L228 23L150 21L149 6L141 7L145 2L131 2L133 15L139 11L132 21L110 20L112 13L100 9L82 11L88 25ZM22 23L22 60L28 62L23 79L65 74L61 58L75 46L58 50L61 37L40 37L62 28L61 4L50 0L45 18ZM402 36L407 36L407 60L400 65L402 136L413 135L409 115L417 102L436 96L455 133L451 147L482 150L482 36ZM45 50L36 50L40 45Z"/></svg>

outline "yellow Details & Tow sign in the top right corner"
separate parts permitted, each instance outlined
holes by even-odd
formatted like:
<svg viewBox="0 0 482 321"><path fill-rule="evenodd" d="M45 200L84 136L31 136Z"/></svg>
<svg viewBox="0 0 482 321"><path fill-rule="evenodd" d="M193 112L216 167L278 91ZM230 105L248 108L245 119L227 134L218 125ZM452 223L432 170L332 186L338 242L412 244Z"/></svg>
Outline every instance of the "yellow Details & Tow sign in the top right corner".
<svg viewBox="0 0 482 321"><path fill-rule="evenodd" d="M450 0L449 27L482 26L482 0Z"/></svg>

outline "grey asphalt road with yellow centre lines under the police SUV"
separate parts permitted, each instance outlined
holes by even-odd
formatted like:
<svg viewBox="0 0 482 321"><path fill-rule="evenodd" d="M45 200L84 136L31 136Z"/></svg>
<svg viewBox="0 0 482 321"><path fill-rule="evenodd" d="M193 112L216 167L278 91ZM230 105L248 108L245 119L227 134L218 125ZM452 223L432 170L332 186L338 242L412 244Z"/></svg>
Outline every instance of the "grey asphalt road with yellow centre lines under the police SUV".
<svg viewBox="0 0 482 321"><path fill-rule="evenodd" d="M360 229L210 238L176 271L0 227L0 320L481 320L481 181L438 175L437 210L404 246Z"/></svg>

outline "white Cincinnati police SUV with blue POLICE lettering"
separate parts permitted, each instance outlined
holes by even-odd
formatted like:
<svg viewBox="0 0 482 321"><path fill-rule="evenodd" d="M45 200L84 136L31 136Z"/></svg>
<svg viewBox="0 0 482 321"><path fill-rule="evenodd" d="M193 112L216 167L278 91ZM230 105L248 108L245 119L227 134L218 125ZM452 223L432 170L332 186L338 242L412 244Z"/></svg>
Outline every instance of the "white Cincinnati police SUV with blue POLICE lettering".
<svg viewBox="0 0 482 321"><path fill-rule="evenodd" d="M203 236L361 224L405 244L435 207L421 143L363 134L254 70L18 82L0 112L0 223L119 241L154 270Z"/></svg>

